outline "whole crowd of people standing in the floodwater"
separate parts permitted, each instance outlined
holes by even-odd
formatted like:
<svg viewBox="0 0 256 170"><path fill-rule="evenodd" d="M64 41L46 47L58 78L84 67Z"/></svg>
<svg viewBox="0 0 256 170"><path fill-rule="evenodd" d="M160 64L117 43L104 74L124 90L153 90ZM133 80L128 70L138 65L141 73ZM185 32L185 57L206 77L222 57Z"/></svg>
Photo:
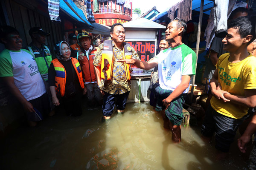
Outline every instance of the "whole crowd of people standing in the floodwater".
<svg viewBox="0 0 256 170"><path fill-rule="evenodd" d="M216 134L219 159L226 159L239 125L248 118L248 109L256 107L255 23L246 15L241 8L233 11L227 36L213 40L207 61L213 65L207 73L212 97L201 133L207 141ZM58 110L59 105L67 115L81 115L83 94L89 105L102 105L102 122L106 122L115 107L117 113L125 111L131 91L131 65L154 68L150 103L161 112L163 127L171 131L172 140L179 143L183 104L196 71L196 54L182 42L186 28L183 19L172 20L160 40L160 53L144 62L125 42L125 28L120 23L111 26L111 39L103 43L98 38L93 40L87 32L70 34L69 43L55 43L54 57L45 45L49 33L41 28L29 30L32 42L23 49L19 32L2 26L0 40L6 49L0 53L0 77L23 105L31 126L51 116L52 109ZM256 131L256 116L251 115L238 142L242 152Z"/></svg>

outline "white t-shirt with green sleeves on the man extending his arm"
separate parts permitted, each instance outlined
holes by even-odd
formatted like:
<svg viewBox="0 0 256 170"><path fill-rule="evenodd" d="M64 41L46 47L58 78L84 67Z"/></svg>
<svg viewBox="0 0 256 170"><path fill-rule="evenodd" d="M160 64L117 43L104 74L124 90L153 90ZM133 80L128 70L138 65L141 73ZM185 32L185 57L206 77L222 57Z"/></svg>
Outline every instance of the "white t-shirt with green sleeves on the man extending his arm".
<svg viewBox="0 0 256 170"><path fill-rule="evenodd" d="M185 44L163 50L155 59L162 89L174 91L181 82L181 76L195 74L196 54ZM188 91L189 87L183 93Z"/></svg>

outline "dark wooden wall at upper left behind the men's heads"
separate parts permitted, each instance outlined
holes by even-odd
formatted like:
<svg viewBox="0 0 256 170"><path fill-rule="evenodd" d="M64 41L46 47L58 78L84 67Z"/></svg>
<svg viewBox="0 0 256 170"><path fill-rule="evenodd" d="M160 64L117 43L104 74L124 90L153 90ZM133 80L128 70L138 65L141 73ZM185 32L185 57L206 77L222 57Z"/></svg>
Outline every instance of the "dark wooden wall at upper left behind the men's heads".
<svg viewBox="0 0 256 170"><path fill-rule="evenodd" d="M41 5L42 1L31 0L31 6L23 6L22 1L16 3L14 0L4 0L9 25L15 27L23 40L23 47L31 42L29 29L32 27L41 27L44 31L49 32L46 44L53 49L54 43L63 40L64 34L61 23L52 22L49 18L47 4ZM44 11L38 10L38 6Z"/></svg>

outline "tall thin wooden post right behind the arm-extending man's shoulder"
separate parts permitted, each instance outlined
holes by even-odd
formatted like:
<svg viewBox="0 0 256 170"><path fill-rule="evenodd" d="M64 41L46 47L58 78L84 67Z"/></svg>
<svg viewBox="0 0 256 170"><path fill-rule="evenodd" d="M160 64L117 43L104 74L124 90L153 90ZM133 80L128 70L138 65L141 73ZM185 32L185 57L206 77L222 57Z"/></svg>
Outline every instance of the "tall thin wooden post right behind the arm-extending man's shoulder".
<svg viewBox="0 0 256 170"><path fill-rule="evenodd" d="M203 12L204 12L204 0L201 0L201 7L200 7L200 13L199 13L199 21L198 21L198 35L196 40L196 62L195 62L195 69L197 67L197 61L198 61L198 51L199 51L199 43L200 43L200 35L201 35L201 26L202 26L202 18L203 18ZM190 102L193 101L193 93L194 93L194 85L195 85L195 75L191 77L192 79L192 87L191 87L191 93L190 93Z"/></svg>

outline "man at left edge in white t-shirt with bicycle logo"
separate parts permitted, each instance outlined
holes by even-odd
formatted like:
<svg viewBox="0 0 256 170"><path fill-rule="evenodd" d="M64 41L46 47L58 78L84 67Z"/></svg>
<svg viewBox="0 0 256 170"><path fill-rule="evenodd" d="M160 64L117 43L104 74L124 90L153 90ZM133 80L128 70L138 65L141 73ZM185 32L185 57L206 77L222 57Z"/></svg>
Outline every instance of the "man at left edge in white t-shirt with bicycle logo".
<svg viewBox="0 0 256 170"><path fill-rule="evenodd" d="M31 53L22 48L18 31L11 26L2 26L0 40L5 45L0 53L0 78L10 92L20 101L29 125L49 113L49 98L38 65Z"/></svg>

